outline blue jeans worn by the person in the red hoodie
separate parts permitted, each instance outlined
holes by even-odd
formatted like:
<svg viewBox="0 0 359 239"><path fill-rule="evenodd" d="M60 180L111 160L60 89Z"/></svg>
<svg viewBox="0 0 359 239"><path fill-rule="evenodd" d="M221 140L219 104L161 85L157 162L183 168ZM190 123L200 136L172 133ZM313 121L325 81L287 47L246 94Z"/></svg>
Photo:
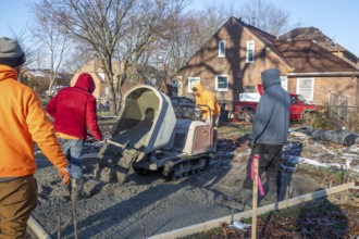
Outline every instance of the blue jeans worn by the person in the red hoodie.
<svg viewBox="0 0 359 239"><path fill-rule="evenodd" d="M83 159L85 142L81 139L59 138L61 148L69 161L70 175L72 178L83 177Z"/></svg>

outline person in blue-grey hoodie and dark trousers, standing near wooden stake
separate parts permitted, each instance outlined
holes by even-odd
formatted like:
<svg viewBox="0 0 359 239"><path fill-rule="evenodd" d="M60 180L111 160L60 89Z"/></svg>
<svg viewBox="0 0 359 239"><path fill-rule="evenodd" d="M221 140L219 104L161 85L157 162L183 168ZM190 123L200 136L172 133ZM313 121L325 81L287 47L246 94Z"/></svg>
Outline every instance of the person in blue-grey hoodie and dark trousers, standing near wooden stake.
<svg viewBox="0 0 359 239"><path fill-rule="evenodd" d="M275 200L278 196L281 153L287 141L289 127L290 97L282 88L280 77L280 71L276 68L267 70L261 74L264 93L260 98L255 115L249 141L252 150L244 181L245 189L252 188L250 168L253 154L258 154L259 175L262 176L265 172L264 197L269 200Z"/></svg>

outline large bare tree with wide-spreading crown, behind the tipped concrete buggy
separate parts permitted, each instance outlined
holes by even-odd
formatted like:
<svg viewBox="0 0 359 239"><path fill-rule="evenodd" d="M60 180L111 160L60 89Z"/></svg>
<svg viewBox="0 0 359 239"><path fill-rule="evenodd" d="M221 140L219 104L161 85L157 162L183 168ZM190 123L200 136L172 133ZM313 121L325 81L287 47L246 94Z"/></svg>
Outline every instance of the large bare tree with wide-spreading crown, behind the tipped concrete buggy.
<svg viewBox="0 0 359 239"><path fill-rule="evenodd" d="M143 52L169 27L183 0L42 0L57 24L90 46L103 65L110 111L116 113L120 88ZM117 58L119 75L113 61ZM120 99L116 99L120 98Z"/></svg>

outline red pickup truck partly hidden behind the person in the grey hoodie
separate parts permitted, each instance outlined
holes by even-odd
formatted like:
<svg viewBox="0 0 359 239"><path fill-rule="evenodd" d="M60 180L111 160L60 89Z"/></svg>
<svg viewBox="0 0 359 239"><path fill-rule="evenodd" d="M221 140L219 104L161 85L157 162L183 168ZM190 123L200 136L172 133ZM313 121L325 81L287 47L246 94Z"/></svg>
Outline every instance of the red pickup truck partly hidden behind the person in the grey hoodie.
<svg viewBox="0 0 359 239"><path fill-rule="evenodd" d="M262 87L258 86L258 91L262 95ZM299 121L302 120L308 113L318 112L320 106L307 102L307 100L296 93L289 93L292 104L289 108L289 120ZM235 101L234 111L232 114L233 122L252 122L257 110L258 101Z"/></svg>

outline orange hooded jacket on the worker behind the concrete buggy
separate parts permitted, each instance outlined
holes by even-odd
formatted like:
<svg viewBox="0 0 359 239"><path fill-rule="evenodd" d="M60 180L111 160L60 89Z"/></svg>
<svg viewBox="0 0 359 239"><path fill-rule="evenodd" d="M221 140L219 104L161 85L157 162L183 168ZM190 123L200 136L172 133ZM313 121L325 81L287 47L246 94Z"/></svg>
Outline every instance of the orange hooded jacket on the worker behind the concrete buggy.
<svg viewBox="0 0 359 239"><path fill-rule="evenodd" d="M203 90L200 83L195 83L193 87L196 87L199 96L196 95L196 104L207 104L210 108L211 116L220 115L221 109L218 103L214 93ZM207 106L202 106L202 117L207 120L209 112Z"/></svg>

